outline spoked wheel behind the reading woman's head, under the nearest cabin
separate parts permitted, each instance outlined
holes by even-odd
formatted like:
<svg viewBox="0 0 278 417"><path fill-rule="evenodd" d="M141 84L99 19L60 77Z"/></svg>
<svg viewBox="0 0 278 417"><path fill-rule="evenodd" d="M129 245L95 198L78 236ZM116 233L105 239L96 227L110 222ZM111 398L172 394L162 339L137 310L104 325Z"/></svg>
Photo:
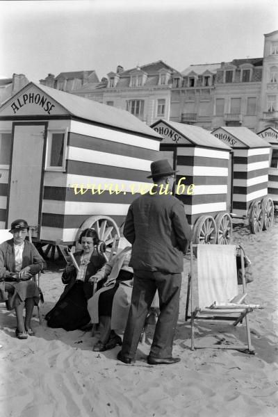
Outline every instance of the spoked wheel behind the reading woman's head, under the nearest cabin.
<svg viewBox="0 0 278 417"><path fill-rule="evenodd" d="M81 232L84 229L88 229L89 227L95 229L99 239L104 241L106 247L112 246L114 236L116 234L117 236L120 236L120 231L115 220L108 217L107 215L92 215L90 218L85 220L85 222L83 222L81 228L79 229L76 236L76 247Z"/></svg>

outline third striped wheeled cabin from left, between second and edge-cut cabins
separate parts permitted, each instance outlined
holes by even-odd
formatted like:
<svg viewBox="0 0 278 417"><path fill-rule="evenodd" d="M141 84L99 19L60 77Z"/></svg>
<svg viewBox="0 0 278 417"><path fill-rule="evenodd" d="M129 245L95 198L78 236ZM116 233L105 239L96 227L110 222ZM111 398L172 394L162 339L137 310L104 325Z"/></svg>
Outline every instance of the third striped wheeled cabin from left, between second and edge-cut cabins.
<svg viewBox="0 0 278 417"><path fill-rule="evenodd" d="M268 229L274 215L268 196L270 145L247 127L224 126L212 134L233 149L232 213L248 218L254 234Z"/></svg>

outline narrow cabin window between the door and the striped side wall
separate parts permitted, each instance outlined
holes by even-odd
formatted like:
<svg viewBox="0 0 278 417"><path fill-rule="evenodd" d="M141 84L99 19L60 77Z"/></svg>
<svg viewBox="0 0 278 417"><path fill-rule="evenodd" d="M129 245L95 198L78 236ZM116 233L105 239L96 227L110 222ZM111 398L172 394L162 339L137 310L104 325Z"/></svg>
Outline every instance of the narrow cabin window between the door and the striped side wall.
<svg viewBox="0 0 278 417"><path fill-rule="evenodd" d="M49 131L47 142L47 169L65 170L65 131Z"/></svg>

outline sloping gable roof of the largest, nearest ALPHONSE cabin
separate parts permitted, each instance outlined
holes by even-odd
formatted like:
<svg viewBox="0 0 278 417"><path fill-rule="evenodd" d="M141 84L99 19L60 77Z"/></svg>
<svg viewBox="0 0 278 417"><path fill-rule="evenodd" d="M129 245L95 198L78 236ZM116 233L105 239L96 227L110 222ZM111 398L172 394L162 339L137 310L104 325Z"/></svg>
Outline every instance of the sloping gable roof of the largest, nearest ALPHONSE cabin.
<svg viewBox="0 0 278 417"><path fill-rule="evenodd" d="M131 115L128 111L120 108L106 106L106 104L100 104L97 101L84 99L83 97L33 82L28 83L22 90L17 92L17 95L22 94L22 92L28 90L28 88L32 86L35 86L57 101L60 106L65 108L69 115L76 116L83 120L89 120L90 122L97 122L99 124L105 124L106 126L124 129L126 131L141 133L143 135L152 136L156 138L156 140L161 140L161 136L147 126L147 124L141 122L141 120ZM14 98L12 97L10 100L6 101L6 104L3 104L3 106L0 107L0 110L13 100Z"/></svg>

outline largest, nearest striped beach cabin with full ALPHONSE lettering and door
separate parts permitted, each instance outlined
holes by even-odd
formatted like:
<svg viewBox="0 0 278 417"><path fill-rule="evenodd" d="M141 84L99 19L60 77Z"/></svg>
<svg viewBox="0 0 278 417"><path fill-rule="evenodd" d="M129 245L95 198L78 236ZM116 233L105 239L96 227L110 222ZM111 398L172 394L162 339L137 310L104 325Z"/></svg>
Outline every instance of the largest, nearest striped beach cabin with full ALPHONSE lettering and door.
<svg viewBox="0 0 278 417"><path fill-rule="evenodd" d="M110 243L160 142L131 113L28 83L0 108L0 228L26 219L53 255L85 227Z"/></svg>

